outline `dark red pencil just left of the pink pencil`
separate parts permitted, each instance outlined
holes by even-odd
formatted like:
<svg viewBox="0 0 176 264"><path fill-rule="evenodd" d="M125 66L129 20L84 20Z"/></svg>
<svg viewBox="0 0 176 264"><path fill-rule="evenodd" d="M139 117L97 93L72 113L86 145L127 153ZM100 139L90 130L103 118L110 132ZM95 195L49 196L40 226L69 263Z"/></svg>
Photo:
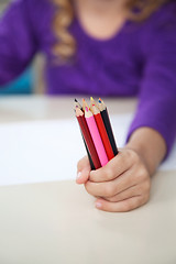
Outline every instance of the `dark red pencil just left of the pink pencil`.
<svg viewBox="0 0 176 264"><path fill-rule="evenodd" d="M91 134L89 132L89 129L88 129L88 125L87 125L87 122L86 122L86 119L85 119L85 114L78 107L76 108L76 118L78 120L80 130L84 134L84 138L85 138L85 141L86 141L87 147L89 150L89 153L90 153L92 163L95 165L95 168L96 169L100 168L101 167L100 160L98 157L95 144L92 142L92 138L91 138Z"/></svg>

